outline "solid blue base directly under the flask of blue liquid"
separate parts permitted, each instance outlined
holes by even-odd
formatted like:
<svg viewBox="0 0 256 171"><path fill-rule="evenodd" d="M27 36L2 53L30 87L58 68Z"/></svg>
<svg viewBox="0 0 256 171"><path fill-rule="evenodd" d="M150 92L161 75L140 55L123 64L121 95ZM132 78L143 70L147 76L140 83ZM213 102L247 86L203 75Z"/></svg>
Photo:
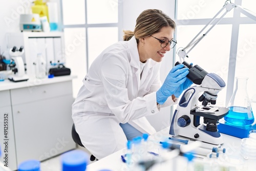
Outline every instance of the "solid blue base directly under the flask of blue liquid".
<svg viewBox="0 0 256 171"><path fill-rule="evenodd" d="M247 138L251 130L256 130L256 124L249 126L235 126L227 123L224 119L219 123L218 130L220 133L238 138Z"/></svg>

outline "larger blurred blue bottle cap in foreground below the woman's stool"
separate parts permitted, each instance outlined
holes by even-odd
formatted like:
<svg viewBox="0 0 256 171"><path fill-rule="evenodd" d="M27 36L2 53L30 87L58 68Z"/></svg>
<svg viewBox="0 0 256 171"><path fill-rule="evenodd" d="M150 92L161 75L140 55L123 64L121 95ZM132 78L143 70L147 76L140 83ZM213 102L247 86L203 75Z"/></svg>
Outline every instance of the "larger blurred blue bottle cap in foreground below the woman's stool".
<svg viewBox="0 0 256 171"><path fill-rule="evenodd" d="M84 171L89 162L89 155L79 149L61 156L62 171Z"/></svg>

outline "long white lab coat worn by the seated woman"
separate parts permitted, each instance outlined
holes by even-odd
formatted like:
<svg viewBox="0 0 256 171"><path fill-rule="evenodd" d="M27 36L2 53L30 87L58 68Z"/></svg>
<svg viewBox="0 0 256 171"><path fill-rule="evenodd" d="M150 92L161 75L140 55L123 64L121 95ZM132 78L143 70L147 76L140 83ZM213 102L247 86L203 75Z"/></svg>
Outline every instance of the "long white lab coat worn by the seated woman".
<svg viewBox="0 0 256 171"><path fill-rule="evenodd" d="M97 159L125 147L119 123L128 122L142 133L156 132L145 116L159 113L159 69L159 62L148 59L140 77L135 37L117 42L94 60L72 105L72 118L83 145ZM170 97L161 107L175 103Z"/></svg>

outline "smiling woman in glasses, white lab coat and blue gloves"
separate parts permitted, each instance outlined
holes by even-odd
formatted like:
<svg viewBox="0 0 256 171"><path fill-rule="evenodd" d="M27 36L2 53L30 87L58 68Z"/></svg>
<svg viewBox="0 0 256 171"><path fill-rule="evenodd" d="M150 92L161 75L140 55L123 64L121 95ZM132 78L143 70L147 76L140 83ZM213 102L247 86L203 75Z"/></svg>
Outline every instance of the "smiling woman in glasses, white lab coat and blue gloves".
<svg viewBox="0 0 256 171"><path fill-rule="evenodd" d="M106 48L92 63L72 106L82 144L97 159L126 146L127 139L154 134L145 116L177 103L192 82L188 69L177 65L163 84L160 62L174 48L175 22L160 10L143 11L134 32Z"/></svg>

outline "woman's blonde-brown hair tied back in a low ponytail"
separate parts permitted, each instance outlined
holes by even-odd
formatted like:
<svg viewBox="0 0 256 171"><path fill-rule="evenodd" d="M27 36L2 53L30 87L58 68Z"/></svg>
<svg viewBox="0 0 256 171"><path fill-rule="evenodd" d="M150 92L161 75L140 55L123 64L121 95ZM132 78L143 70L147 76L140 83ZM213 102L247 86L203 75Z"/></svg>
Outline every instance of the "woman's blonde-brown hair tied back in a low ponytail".
<svg viewBox="0 0 256 171"><path fill-rule="evenodd" d="M138 42L139 38L158 33L163 27L172 27L175 29L176 24L172 18L163 13L161 10L144 10L136 20L134 31L123 30L123 40L127 41L135 36Z"/></svg>

